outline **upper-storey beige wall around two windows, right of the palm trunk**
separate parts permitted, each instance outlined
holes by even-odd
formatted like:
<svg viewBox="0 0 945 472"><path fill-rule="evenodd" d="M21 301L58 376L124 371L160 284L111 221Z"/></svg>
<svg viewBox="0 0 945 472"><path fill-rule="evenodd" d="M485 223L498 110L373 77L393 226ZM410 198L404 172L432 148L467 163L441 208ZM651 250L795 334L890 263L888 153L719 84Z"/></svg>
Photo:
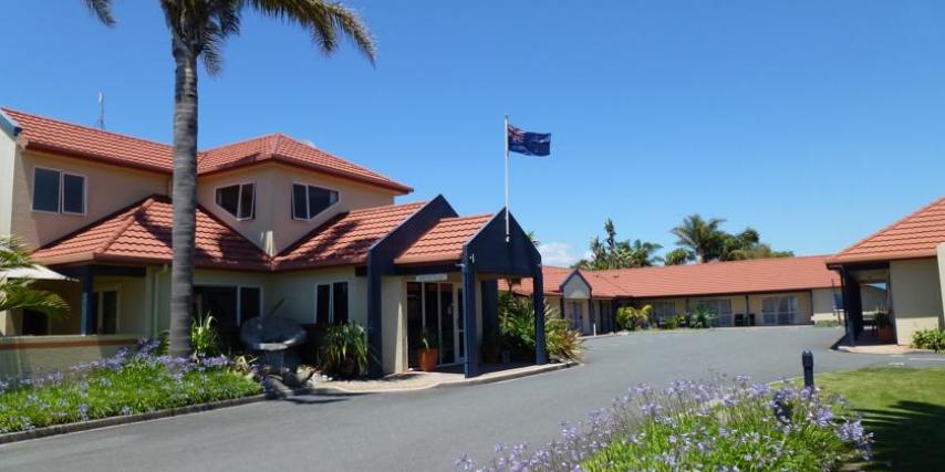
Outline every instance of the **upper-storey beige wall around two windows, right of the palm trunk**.
<svg viewBox="0 0 945 472"><path fill-rule="evenodd" d="M235 183L256 183L256 218L238 221L216 203L216 189ZM292 219L292 183L323 187L339 192L339 201L311 221ZM285 249L309 231L342 211L394 202L391 190L352 182L280 164L263 164L201 177L197 200L269 254Z"/></svg>

